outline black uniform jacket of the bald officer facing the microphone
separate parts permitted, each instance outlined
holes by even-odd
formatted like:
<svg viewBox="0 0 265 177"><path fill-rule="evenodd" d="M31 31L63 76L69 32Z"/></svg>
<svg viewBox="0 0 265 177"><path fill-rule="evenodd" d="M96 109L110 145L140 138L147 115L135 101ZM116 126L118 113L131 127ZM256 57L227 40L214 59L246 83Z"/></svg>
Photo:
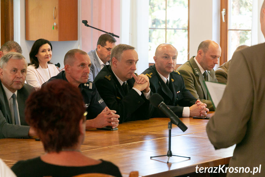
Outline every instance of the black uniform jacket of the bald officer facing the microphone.
<svg viewBox="0 0 265 177"><path fill-rule="evenodd" d="M149 77L151 95L158 93L164 98L164 103L178 116L182 117L183 107L190 107L197 99L186 89L182 76L177 71L169 75L169 86L159 76L155 65L150 66L142 74ZM154 108L152 117L165 117L158 108Z"/></svg>

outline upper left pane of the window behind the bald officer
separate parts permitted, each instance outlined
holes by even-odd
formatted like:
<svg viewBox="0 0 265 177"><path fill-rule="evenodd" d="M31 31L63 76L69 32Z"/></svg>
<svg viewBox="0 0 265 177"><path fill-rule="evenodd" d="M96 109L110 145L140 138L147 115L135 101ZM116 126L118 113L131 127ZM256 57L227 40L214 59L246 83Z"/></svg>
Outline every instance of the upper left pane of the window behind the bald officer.
<svg viewBox="0 0 265 177"><path fill-rule="evenodd" d="M166 27L166 1L149 0L149 28Z"/></svg>

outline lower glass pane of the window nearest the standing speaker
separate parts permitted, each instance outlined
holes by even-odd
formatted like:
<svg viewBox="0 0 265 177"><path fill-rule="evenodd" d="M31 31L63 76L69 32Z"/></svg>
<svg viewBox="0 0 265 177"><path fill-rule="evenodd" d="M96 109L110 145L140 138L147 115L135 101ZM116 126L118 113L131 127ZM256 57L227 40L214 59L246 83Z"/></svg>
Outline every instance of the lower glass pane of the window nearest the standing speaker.
<svg viewBox="0 0 265 177"><path fill-rule="evenodd" d="M251 31L229 31L228 60L232 58L236 47L241 45L251 46Z"/></svg>

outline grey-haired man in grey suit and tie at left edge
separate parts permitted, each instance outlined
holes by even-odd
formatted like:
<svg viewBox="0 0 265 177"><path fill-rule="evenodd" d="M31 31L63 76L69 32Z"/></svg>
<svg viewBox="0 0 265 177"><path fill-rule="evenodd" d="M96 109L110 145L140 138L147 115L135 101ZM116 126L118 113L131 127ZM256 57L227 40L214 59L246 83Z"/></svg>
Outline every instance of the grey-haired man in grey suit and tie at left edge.
<svg viewBox="0 0 265 177"><path fill-rule="evenodd" d="M36 135L25 122L25 101L34 90L25 84L27 61L10 52L0 62L0 138L29 138Z"/></svg>

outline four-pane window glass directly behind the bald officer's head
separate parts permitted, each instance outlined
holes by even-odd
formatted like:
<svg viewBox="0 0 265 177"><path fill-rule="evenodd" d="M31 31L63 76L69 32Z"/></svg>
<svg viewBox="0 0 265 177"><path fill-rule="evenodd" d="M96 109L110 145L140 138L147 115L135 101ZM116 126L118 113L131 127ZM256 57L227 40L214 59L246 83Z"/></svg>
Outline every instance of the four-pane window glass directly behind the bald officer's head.
<svg viewBox="0 0 265 177"><path fill-rule="evenodd" d="M161 43L170 43L178 51L177 63L188 56L189 0L149 0L149 62Z"/></svg>

